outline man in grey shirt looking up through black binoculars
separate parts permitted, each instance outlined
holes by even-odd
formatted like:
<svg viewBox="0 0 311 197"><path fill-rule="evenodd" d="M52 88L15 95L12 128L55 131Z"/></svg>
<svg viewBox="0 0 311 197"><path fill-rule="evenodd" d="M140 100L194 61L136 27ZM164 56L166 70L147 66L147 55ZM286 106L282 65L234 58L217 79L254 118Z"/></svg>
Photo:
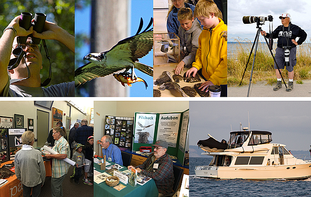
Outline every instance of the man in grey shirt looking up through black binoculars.
<svg viewBox="0 0 311 197"><path fill-rule="evenodd" d="M42 55L38 44L33 44L32 41L34 38L57 40L75 52L75 37L55 23L48 21L45 21L42 33L35 31L34 28L36 27L33 25L26 30L20 26L21 20L21 16L15 17L0 38L0 96L75 96L74 82L51 85L48 88L41 87L43 86L40 77L40 70L43 67ZM32 22L36 21L32 19ZM31 33L32 36L30 37L29 34ZM26 36L24 44L20 42L20 36ZM17 37L19 37L18 40L21 44L18 44ZM18 47L25 52L25 55L19 55L21 57L18 57L21 59L19 59L19 63L16 63L17 67L9 69L10 59L16 59L17 56L13 51ZM23 52L21 51L20 54Z"/></svg>

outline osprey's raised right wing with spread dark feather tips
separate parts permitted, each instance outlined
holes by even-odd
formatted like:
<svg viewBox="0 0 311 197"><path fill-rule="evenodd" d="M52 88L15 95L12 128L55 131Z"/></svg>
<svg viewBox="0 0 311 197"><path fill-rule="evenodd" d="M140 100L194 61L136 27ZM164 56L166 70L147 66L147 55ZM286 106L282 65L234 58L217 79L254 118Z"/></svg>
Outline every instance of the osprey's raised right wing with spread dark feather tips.
<svg viewBox="0 0 311 197"><path fill-rule="evenodd" d="M133 62L139 61L139 58L147 55L153 47L153 28L148 30L152 23L153 18L150 19L147 28L139 33L143 26L143 19L141 18L140 27L137 33L131 37L119 41L117 45L107 52L107 56L110 54L118 54L122 51L123 57L127 56Z"/></svg>

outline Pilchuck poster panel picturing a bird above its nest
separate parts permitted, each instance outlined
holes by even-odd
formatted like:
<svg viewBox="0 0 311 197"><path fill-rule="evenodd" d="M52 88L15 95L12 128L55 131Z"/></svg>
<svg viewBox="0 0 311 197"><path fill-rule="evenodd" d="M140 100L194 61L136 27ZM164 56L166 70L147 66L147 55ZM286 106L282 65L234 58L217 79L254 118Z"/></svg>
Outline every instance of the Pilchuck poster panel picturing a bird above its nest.
<svg viewBox="0 0 311 197"><path fill-rule="evenodd" d="M153 143L156 117L156 113L135 113L134 143Z"/></svg>

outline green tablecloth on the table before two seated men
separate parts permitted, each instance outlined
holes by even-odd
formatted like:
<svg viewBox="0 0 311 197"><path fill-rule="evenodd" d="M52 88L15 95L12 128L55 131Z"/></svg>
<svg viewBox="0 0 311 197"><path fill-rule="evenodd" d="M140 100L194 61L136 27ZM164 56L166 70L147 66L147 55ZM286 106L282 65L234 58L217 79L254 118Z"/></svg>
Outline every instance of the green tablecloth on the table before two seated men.
<svg viewBox="0 0 311 197"><path fill-rule="evenodd" d="M100 160L100 158L98 158ZM115 163L109 162L112 165ZM100 170L100 166L98 164L94 163L95 170L102 173L105 171ZM126 167L123 167L120 169L120 171L127 170ZM119 182L123 184L121 181ZM124 184L123 184L124 185ZM100 184L97 184L94 182L94 197L133 197L133 196L139 196L139 197L157 197L158 196L158 189L153 179L149 180L144 185L137 184L135 187L131 186L130 184L126 184L125 188L123 188L121 191L118 191L114 189L113 187L110 187L106 184L106 182L102 182Z"/></svg>

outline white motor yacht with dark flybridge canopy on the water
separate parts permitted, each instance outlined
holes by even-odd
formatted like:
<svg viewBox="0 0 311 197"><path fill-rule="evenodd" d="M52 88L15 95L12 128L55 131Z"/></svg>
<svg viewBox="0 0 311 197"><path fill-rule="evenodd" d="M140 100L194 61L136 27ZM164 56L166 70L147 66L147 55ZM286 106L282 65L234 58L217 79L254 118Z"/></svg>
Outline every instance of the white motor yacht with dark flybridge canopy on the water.
<svg viewBox="0 0 311 197"><path fill-rule="evenodd" d="M247 128L248 129L248 128ZM212 155L208 166L196 166L197 177L214 179L307 179L311 177L311 161L295 158L284 144L271 143L268 131L234 131L228 144L210 136L198 146Z"/></svg>

